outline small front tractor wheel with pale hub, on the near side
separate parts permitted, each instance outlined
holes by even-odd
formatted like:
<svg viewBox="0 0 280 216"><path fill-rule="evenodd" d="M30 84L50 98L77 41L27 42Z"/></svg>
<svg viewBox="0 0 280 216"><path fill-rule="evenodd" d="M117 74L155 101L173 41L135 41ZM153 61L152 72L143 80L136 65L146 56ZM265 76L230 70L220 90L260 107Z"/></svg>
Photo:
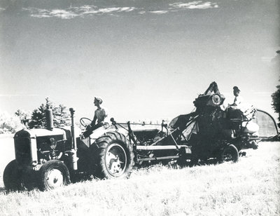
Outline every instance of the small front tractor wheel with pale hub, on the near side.
<svg viewBox="0 0 280 216"><path fill-rule="evenodd" d="M39 170L39 189L56 189L70 183L69 170L62 161L44 163Z"/></svg>

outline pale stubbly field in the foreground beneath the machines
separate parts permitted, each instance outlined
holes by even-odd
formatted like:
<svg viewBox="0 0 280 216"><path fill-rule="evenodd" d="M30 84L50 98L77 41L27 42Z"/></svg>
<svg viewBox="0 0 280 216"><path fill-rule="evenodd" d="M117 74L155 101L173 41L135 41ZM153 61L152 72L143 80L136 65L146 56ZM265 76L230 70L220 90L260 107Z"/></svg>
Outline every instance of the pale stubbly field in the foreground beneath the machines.
<svg viewBox="0 0 280 216"><path fill-rule="evenodd" d="M54 191L0 191L0 215L280 215L280 143L238 163L134 170Z"/></svg>

